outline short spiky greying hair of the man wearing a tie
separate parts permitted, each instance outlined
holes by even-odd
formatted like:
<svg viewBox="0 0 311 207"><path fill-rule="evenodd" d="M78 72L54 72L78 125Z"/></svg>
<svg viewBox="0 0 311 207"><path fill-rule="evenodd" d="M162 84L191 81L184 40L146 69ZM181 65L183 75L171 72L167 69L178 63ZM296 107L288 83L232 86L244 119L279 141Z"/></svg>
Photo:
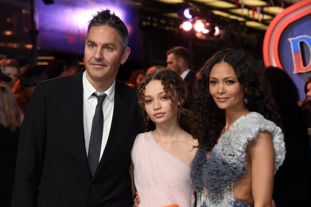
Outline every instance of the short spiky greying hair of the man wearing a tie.
<svg viewBox="0 0 311 207"><path fill-rule="evenodd" d="M93 19L89 21L86 39L89 35L92 26L106 25L114 28L118 31L122 51L128 46L128 28L124 22L115 13L111 13L110 9L97 11L97 14L93 16Z"/></svg>

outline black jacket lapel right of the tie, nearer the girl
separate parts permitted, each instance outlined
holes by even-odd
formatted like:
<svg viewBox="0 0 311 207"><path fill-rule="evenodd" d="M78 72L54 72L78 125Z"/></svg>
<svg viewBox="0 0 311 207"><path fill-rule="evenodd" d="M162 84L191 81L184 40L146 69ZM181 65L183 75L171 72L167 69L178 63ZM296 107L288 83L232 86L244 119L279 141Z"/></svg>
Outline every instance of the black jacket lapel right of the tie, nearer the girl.
<svg viewBox="0 0 311 207"><path fill-rule="evenodd" d="M100 163L98 164L92 180L102 172L109 160L118 151L119 146L122 144L126 136L137 105L137 103L133 103L132 99L133 98L126 93L126 90L123 89L122 83L116 80L114 112L112 115L109 136Z"/></svg>

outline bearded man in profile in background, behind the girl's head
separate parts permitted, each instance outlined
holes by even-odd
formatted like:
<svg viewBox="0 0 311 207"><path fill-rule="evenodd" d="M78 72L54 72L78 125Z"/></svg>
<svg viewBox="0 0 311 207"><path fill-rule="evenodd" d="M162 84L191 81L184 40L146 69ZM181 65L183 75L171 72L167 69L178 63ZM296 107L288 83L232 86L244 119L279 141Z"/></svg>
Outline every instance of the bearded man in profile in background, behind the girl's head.
<svg viewBox="0 0 311 207"><path fill-rule="evenodd" d="M182 46L173 47L166 52L166 58L167 69L177 72L186 82L188 98L183 107L190 108L189 99L191 99L192 87L196 76L189 68L189 52Z"/></svg>

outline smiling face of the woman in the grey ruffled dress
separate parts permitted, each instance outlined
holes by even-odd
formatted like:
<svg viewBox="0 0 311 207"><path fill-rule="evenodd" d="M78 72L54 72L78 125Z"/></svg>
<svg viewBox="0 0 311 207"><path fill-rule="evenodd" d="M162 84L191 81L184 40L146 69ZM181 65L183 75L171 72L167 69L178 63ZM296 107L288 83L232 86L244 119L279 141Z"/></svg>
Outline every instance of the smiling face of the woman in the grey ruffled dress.
<svg viewBox="0 0 311 207"><path fill-rule="evenodd" d="M226 62L215 64L209 81L210 94L218 108L233 111L244 109L246 88L239 83L232 66Z"/></svg>

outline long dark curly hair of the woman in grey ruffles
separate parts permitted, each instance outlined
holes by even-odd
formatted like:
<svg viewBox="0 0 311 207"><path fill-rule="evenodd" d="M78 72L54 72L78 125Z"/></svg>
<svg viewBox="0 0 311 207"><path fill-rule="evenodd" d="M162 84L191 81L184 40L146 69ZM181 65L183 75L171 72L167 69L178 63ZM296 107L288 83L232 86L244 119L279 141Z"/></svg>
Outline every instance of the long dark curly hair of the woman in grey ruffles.
<svg viewBox="0 0 311 207"><path fill-rule="evenodd" d="M249 101L245 105L246 108L251 112L261 113L266 119L281 126L271 89L257 61L241 50L219 51L205 62L200 70L201 76L195 82L193 89L192 111L196 115L197 122L193 136L198 139L199 147L206 147L208 151L213 149L225 127L225 110L217 107L209 93L211 69L220 62L232 66L239 83L247 88L245 97Z"/></svg>

